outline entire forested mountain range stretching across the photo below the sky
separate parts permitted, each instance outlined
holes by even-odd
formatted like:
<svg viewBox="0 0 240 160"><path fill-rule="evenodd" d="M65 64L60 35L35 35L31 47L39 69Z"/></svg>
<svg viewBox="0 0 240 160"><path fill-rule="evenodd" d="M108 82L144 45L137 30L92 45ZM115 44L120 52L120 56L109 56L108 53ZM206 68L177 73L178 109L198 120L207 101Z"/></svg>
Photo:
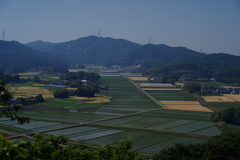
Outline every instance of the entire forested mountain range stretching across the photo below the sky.
<svg viewBox="0 0 240 160"><path fill-rule="evenodd" d="M190 79L216 78L230 83L238 81L240 77L239 56L224 53L205 54L185 47L170 47L163 44L140 45L124 39L97 36L62 43L35 41L26 45L39 51L15 41L11 44L1 41L0 55L3 63L0 68L13 70L11 68L63 65L56 60L60 59L72 67L78 64L108 64L109 66L141 64L143 66L141 72L154 77L177 75L190 77Z"/></svg>

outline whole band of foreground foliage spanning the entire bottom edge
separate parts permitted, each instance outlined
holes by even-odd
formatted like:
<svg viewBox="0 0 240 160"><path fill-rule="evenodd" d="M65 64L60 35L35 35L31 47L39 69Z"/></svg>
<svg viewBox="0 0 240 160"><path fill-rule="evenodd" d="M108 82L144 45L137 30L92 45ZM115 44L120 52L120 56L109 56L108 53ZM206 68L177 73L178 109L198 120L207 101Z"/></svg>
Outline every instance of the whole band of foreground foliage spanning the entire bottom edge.
<svg viewBox="0 0 240 160"><path fill-rule="evenodd" d="M98 149L74 146L64 136L35 134L33 141L12 143L0 135L1 160L237 160L240 159L240 134L214 136L205 143L175 144L155 156L143 156L132 149L133 139Z"/></svg>

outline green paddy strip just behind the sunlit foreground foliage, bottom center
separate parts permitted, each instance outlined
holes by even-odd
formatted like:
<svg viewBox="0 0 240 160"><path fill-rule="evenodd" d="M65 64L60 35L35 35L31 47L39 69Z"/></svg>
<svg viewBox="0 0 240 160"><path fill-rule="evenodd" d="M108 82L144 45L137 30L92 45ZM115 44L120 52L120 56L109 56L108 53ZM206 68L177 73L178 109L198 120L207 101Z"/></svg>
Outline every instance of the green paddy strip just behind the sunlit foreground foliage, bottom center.
<svg viewBox="0 0 240 160"><path fill-rule="evenodd" d="M99 146L103 146L106 144L114 144L114 143L117 144L119 141L127 139L128 137L135 139L137 137L140 137L146 134L149 134L149 133L141 132L141 131L124 131L124 132L120 132L112 135L94 138L88 141L84 141L84 143L94 144Z"/></svg>

